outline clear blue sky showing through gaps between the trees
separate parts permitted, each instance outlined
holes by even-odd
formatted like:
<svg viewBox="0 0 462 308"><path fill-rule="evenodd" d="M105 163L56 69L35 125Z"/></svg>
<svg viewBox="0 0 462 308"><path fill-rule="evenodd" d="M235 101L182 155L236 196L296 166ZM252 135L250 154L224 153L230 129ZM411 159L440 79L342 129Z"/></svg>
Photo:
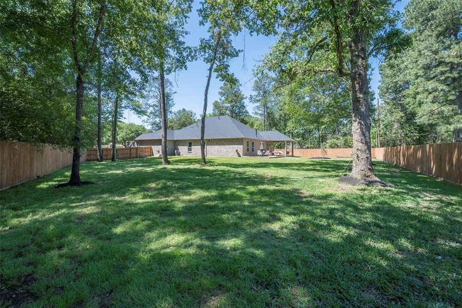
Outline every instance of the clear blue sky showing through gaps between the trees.
<svg viewBox="0 0 462 308"><path fill-rule="evenodd" d="M403 11L408 0L398 1L395 8ZM199 1L193 3L193 9L188 20L187 29L190 34L186 37L186 43L190 46L197 46L200 37L207 37L207 27L199 26L199 16L197 9ZM242 84L241 90L246 95L247 109L253 112L253 105L249 103L249 96L252 94L253 74L252 69L260 59L269 50L270 46L276 42L274 36L253 35L242 33L234 38L234 47L244 50L239 57L232 59L230 62L230 71L234 73ZM378 85L380 74L378 73L379 60L370 59L370 65L373 69L371 87L378 95ZM197 116L202 112L204 104L204 89L207 82L208 65L202 60L197 60L188 64L188 69L176 72L168 76L173 81L176 94L174 96L175 106L173 110L182 108L193 110ZM176 80L176 82L174 82ZM212 103L219 98L218 90L222 85L218 79L213 76L209 89L209 106L207 112L212 111ZM125 111L125 122L143 124L142 119L138 118L132 112Z"/></svg>

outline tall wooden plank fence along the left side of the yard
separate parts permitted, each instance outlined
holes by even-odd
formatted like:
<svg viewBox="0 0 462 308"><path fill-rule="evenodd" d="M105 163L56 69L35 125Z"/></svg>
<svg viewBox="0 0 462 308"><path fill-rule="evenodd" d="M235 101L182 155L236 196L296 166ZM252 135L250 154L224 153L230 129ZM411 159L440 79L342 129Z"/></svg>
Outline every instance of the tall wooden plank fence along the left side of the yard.
<svg viewBox="0 0 462 308"><path fill-rule="evenodd" d="M85 161L85 154L81 161ZM42 177L72 164L72 149L0 141L0 189Z"/></svg>

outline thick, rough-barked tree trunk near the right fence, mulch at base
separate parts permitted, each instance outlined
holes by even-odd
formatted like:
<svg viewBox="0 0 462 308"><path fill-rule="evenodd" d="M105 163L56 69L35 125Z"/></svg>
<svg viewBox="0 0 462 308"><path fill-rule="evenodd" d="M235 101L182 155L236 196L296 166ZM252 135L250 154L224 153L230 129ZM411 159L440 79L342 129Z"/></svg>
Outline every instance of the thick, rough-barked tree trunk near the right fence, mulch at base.
<svg viewBox="0 0 462 308"><path fill-rule="evenodd" d="M367 46L364 31L357 30L349 44L351 63L351 100L353 104L353 167L351 177L376 179L371 160L371 120Z"/></svg>

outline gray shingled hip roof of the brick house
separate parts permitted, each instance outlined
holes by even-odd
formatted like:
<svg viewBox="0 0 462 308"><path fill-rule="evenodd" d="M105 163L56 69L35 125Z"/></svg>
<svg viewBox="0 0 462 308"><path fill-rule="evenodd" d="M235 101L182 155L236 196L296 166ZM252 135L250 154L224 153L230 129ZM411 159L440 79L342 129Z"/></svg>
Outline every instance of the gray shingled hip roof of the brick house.
<svg viewBox="0 0 462 308"><path fill-rule="evenodd" d="M135 140L152 140L162 138L162 131L143 133ZM205 119L205 138L206 139L226 139L226 138L247 138L260 139L268 141L294 141L285 134L272 131L256 131L239 121L220 115L219 117L210 117ZM200 139L200 123L196 122L182 129L168 129L168 140L194 140Z"/></svg>

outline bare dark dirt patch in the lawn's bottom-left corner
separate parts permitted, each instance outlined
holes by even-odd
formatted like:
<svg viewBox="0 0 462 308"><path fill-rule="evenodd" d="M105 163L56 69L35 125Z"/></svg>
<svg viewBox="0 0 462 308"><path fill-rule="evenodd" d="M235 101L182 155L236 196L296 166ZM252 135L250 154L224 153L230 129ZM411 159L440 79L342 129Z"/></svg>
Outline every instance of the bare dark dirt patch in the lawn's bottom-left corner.
<svg viewBox="0 0 462 308"><path fill-rule="evenodd" d="M30 291L31 285L36 280L32 274L3 280L0 285L0 298L4 303L9 303L12 307L18 307L36 300L37 296Z"/></svg>

